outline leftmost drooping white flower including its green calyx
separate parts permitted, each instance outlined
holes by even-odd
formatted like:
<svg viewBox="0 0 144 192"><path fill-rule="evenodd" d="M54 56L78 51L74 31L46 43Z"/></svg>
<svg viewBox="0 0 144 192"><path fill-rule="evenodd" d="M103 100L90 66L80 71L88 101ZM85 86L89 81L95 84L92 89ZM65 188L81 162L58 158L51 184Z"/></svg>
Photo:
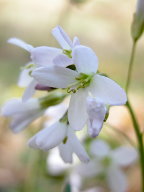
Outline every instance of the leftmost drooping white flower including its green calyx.
<svg viewBox="0 0 144 192"><path fill-rule="evenodd" d="M15 98L9 100L2 107L2 115L11 117L11 129L17 133L26 128L35 119L42 116L48 107L55 106L65 98L63 93L51 93L48 96L36 99L31 98L27 102Z"/></svg>

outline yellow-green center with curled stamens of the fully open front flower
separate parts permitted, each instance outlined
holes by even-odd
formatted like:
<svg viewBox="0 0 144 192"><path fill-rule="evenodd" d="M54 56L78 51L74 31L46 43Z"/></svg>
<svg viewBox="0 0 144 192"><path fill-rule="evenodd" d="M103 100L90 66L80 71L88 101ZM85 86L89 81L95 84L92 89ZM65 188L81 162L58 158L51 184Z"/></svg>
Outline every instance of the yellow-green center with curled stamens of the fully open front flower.
<svg viewBox="0 0 144 192"><path fill-rule="evenodd" d="M78 77L76 77L76 82L71 84L67 88L68 93L76 93L81 88L86 88L90 85L92 79L93 79L94 73L92 74L85 74L80 73Z"/></svg>

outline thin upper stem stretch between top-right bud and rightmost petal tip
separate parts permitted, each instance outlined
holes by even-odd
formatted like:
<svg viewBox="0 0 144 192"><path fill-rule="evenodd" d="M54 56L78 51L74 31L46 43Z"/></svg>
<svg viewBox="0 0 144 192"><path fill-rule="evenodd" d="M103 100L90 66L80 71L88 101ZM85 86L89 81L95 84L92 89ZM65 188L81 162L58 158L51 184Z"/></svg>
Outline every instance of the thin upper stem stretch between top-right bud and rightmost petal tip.
<svg viewBox="0 0 144 192"><path fill-rule="evenodd" d="M128 93L128 89L129 89L129 85L130 85L130 81L131 81L132 69L133 69L133 63L134 63L134 57L135 57L135 50L136 50L136 43L137 43L137 41L134 41L133 46L132 46L127 81L126 81L126 88L125 88L126 93Z"/></svg>

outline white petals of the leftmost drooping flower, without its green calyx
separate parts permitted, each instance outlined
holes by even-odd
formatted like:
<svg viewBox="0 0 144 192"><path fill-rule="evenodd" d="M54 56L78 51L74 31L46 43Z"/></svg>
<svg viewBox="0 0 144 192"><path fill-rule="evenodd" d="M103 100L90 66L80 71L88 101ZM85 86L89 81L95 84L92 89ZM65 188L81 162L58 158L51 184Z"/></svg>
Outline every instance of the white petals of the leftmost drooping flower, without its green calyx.
<svg viewBox="0 0 144 192"><path fill-rule="evenodd" d="M43 114L38 99L23 103L21 99L11 99L2 108L2 115L11 117L11 129L18 133Z"/></svg>

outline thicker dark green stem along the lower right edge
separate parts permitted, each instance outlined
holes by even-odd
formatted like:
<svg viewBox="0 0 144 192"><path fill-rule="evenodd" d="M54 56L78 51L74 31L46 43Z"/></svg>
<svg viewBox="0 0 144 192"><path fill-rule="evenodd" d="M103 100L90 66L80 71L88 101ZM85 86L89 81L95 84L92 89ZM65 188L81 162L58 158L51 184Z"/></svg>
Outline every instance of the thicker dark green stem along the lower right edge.
<svg viewBox="0 0 144 192"><path fill-rule="evenodd" d="M129 113L131 115L132 118L132 123L134 126L134 130L135 130L135 134L138 140L138 149L139 149L139 156L140 156L140 165L141 165L141 174L142 174L142 192L144 192L144 146L143 146L143 136L140 132L140 127L138 124L138 121L136 119L136 116L133 112L132 106L129 103L129 101L127 102L127 108L129 110Z"/></svg>

